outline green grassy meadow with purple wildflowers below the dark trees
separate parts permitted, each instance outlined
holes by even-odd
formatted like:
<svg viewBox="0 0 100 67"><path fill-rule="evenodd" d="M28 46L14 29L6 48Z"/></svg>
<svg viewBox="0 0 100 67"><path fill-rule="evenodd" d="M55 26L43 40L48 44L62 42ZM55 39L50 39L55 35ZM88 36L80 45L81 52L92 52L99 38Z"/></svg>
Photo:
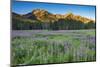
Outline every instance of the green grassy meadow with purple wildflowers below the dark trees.
<svg viewBox="0 0 100 67"><path fill-rule="evenodd" d="M96 60L95 30L12 31L12 64Z"/></svg>

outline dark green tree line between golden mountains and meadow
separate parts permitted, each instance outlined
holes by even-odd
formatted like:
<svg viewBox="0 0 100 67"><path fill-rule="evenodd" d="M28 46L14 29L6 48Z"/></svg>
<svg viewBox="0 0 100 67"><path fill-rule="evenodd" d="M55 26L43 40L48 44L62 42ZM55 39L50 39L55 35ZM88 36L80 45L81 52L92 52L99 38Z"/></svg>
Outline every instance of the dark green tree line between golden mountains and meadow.
<svg viewBox="0 0 100 67"><path fill-rule="evenodd" d="M13 30L79 30L95 29L95 23L90 21L83 23L81 21L59 19L55 22L41 22L38 20L12 19Z"/></svg>

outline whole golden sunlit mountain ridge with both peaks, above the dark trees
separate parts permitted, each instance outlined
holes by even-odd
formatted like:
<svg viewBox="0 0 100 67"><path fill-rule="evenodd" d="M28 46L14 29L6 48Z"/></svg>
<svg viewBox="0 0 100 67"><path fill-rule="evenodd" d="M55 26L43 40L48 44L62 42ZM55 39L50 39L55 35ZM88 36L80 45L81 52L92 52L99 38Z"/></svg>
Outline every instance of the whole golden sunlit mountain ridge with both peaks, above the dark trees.
<svg viewBox="0 0 100 67"><path fill-rule="evenodd" d="M83 23L88 23L91 19L79 16L79 15L74 15L72 13L68 13L65 15L61 15L61 14L52 14L46 10L42 10L42 9L35 9L32 12L23 15L29 19L36 19L36 20L40 20L42 22L54 22L57 21L59 19L71 19L71 20L77 20L77 21L81 21Z"/></svg>

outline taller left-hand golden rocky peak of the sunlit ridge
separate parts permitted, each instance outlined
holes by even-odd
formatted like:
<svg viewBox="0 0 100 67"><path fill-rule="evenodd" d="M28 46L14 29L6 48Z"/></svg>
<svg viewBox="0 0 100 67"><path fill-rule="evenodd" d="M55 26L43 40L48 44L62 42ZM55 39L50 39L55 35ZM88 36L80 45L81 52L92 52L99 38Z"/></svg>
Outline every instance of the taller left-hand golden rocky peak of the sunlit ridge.
<svg viewBox="0 0 100 67"><path fill-rule="evenodd" d="M48 11L36 9L32 12L23 15L24 17L27 17L29 19L39 20L41 22L54 22L56 21L55 15L49 13Z"/></svg>

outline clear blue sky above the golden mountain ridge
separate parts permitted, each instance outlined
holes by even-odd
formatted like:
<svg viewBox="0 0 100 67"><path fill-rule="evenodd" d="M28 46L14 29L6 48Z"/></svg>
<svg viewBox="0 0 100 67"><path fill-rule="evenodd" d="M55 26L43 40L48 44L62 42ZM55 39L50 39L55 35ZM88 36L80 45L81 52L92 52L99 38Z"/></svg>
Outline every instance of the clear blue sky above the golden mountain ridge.
<svg viewBox="0 0 100 67"><path fill-rule="evenodd" d="M73 5L73 4L58 4L58 3L41 3L41 2L26 2L13 1L12 12L18 14L27 14L34 9L44 9L53 14L73 13L95 20L95 6Z"/></svg>

